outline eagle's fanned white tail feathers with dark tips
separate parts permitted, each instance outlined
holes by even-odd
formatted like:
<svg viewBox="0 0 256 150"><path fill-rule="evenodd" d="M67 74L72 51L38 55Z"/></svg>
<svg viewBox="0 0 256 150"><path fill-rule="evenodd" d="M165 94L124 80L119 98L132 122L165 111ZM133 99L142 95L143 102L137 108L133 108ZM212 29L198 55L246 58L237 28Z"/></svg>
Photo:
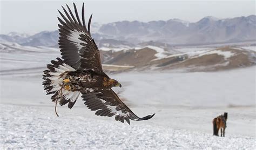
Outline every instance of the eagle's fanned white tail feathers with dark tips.
<svg viewBox="0 0 256 150"><path fill-rule="evenodd" d="M47 94L53 94L51 99L60 106L67 103L69 108L72 108L80 92L71 92L63 88L63 80L66 78L68 72L76 71L73 67L65 64L62 59L57 58L57 61L52 60L52 64L47 65L47 70L44 70L43 85Z"/></svg>

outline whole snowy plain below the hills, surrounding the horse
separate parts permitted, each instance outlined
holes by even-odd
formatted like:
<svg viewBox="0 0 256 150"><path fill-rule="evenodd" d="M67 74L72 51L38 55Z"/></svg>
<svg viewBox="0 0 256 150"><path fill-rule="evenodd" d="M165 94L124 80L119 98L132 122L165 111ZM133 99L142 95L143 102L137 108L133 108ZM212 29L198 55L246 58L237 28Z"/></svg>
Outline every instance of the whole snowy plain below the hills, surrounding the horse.
<svg viewBox="0 0 256 150"><path fill-rule="evenodd" d="M98 117L82 100L69 110L45 95L38 70L4 71L1 140L7 148L255 149L255 69L222 72L120 73L114 88L139 117L131 125ZM226 137L212 136L212 119L228 112Z"/></svg>

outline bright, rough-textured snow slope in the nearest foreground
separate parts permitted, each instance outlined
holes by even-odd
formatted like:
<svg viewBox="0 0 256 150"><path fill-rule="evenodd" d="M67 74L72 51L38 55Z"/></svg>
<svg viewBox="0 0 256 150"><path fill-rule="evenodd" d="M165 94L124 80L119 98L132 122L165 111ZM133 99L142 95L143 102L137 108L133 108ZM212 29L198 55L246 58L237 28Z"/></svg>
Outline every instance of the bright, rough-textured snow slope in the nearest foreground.
<svg viewBox="0 0 256 150"><path fill-rule="evenodd" d="M87 118L42 106L1 105L3 149L253 149L253 137L225 138L186 129ZM182 122L180 122L182 124Z"/></svg>

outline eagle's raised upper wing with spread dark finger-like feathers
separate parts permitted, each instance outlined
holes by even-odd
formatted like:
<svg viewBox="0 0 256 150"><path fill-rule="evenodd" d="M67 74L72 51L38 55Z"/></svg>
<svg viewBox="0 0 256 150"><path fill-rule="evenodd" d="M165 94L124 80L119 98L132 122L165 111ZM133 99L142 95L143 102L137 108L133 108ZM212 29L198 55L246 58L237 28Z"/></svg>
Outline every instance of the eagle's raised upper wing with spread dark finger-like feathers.
<svg viewBox="0 0 256 150"><path fill-rule="evenodd" d="M69 13L63 8L66 17L59 11L63 20L58 17L59 26L59 48L64 59L64 63L72 66L76 70L92 70L103 73L102 63L97 45L91 37L89 19L88 29L85 25L84 4L82 8L82 23L79 19L77 8L73 3L76 17L68 7Z"/></svg>

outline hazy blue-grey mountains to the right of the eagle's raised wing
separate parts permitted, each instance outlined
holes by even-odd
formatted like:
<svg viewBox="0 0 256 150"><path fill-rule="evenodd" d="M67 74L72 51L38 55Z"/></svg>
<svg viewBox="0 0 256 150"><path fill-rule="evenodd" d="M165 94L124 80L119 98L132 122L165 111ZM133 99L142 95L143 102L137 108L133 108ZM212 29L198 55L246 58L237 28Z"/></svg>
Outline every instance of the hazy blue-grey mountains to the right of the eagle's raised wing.
<svg viewBox="0 0 256 150"><path fill-rule="evenodd" d="M256 16L227 19L205 17L195 23L179 19L148 23L123 21L104 24L99 31L131 43L149 40L172 45L240 42L255 40Z"/></svg>

